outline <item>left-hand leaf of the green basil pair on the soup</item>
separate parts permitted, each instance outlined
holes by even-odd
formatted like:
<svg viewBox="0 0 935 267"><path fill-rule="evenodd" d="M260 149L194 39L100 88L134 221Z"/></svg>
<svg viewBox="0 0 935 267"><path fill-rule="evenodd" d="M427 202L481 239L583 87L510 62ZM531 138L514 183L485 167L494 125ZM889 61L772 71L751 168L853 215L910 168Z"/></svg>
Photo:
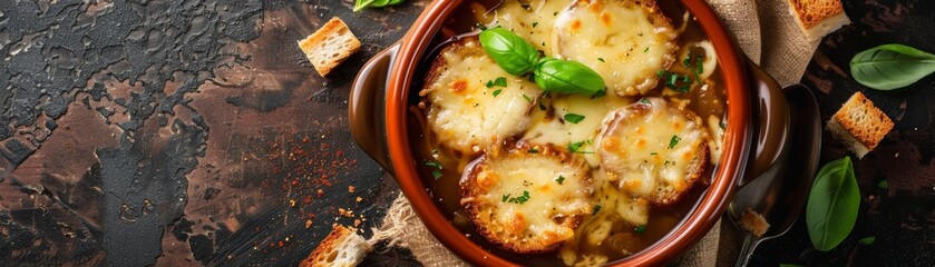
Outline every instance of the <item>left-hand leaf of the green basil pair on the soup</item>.
<svg viewBox="0 0 935 267"><path fill-rule="evenodd" d="M480 47L507 73L524 76L536 68L539 51L522 37L504 28L489 28L480 32Z"/></svg>

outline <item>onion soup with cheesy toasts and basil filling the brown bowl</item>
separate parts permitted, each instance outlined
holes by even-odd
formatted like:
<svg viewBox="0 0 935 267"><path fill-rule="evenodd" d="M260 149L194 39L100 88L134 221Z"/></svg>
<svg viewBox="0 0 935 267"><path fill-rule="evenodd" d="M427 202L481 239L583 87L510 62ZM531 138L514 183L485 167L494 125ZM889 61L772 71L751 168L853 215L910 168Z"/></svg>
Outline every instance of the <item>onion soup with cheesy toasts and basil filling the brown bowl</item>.
<svg viewBox="0 0 935 267"><path fill-rule="evenodd" d="M465 2L410 97L427 190L486 249L592 266L651 246L720 160L717 53L675 1Z"/></svg>

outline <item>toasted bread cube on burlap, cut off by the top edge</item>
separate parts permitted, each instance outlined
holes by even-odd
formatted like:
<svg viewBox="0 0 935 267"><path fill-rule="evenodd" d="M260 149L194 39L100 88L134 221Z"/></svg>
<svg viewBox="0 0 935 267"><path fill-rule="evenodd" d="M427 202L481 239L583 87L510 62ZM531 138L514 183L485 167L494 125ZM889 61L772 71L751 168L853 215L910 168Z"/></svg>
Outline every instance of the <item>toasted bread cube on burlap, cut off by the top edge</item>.
<svg viewBox="0 0 935 267"><path fill-rule="evenodd" d="M812 41L850 23L840 0L789 0L789 11Z"/></svg>

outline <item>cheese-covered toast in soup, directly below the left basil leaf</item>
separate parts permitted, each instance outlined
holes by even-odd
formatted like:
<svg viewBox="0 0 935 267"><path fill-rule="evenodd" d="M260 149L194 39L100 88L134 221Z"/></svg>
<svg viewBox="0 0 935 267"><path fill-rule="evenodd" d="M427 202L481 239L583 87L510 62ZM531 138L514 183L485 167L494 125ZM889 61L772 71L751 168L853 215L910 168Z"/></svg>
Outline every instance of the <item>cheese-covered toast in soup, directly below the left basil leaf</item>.
<svg viewBox="0 0 935 267"><path fill-rule="evenodd" d="M529 109L542 90L504 71L487 57L477 38L445 48L435 63L435 76L420 95L431 105L427 116L430 129L446 147L476 155L528 127ZM505 78L506 87L487 88L487 82L497 78Z"/></svg>

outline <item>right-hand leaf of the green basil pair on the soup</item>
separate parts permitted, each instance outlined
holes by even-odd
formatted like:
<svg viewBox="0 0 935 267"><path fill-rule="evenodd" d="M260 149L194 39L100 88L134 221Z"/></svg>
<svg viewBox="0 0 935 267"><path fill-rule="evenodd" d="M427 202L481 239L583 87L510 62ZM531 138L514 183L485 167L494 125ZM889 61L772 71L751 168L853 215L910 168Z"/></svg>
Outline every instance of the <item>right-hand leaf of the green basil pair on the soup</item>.
<svg viewBox="0 0 935 267"><path fill-rule="evenodd" d="M536 85L545 91L592 96L604 90L604 78L577 61L543 58L536 66Z"/></svg>

